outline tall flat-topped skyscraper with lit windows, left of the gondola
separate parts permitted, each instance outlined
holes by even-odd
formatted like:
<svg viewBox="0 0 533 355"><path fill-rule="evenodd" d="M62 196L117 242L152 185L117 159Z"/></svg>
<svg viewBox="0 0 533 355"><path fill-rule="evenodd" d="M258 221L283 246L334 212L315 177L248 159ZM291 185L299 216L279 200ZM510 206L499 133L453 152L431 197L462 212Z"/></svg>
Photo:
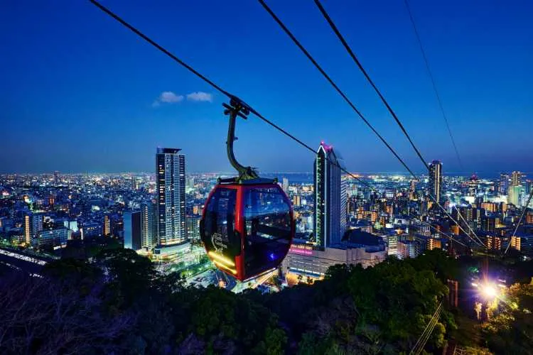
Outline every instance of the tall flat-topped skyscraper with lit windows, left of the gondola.
<svg viewBox="0 0 533 355"><path fill-rule="evenodd" d="M187 241L185 226L185 155L181 149L157 148L158 246Z"/></svg>

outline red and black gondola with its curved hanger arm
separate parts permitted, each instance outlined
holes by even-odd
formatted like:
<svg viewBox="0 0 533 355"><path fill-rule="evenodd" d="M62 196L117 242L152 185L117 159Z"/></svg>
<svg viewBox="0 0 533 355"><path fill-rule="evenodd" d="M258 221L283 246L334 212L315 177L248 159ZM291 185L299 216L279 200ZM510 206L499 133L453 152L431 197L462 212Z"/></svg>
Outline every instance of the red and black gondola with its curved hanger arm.
<svg viewBox="0 0 533 355"><path fill-rule="evenodd" d="M235 120L247 119L249 108L235 97L223 106L230 116L227 156L239 176L219 179L210 192L200 219L200 238L220 271L244 281L283 261L294 238L294 215L277 180L259 178L254 169L235 160Z"/></svg>

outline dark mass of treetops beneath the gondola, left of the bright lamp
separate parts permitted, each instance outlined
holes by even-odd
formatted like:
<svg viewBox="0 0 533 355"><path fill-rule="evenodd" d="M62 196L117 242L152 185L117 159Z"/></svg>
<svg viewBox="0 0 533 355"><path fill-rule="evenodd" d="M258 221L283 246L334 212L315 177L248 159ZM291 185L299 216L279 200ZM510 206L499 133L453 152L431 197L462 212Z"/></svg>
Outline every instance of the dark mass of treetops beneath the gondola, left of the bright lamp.
<svg viewBox="0 0 533 355"><path fill-rule="evenodd" d="M9 320L0 327L0 352L55 353L72 346L78 354L397 354L423 332L452 270L446 256L427 253L366 269L333 266L325 280L279 293L235 295L187 287L178 272L159 275L134 251L108 249L92 263L49 263L43 279L23 278L20 287L0 283L0 306L7 305L0 317ZM14 305L1 298L6 294ZM57 324L43 322L48 317ZM25 323L30 327L23 332ZM443 344L449 327L453 317L445 311L431 349Z"/></svg>

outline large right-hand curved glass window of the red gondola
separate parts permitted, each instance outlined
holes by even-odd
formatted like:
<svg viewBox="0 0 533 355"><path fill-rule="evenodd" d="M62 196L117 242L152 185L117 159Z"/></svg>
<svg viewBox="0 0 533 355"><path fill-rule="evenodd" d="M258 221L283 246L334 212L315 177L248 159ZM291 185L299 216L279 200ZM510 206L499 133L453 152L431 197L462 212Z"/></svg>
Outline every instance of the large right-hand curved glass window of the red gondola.
<svg viewBox="0 0 533 355"><path fill-rule="evenodd" d="M281 263L291 244L291 206L279 187L244 192L244 268L254 275Z"/></svg>

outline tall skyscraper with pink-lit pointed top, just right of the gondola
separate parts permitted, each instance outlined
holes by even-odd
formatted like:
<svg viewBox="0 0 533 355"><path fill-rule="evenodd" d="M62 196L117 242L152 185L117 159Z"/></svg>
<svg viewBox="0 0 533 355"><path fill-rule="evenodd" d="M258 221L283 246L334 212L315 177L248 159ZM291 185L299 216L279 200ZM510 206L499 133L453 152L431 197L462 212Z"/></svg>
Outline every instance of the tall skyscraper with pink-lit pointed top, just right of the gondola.
<svg viewBox="0 0 533 355"><path fill-rule="evenodd" d="M340 244L347 229L346 222L346 182L340 168L343 159L333 146L324 142L316 152L315 214L313 228L319 248Z"/></svg>

